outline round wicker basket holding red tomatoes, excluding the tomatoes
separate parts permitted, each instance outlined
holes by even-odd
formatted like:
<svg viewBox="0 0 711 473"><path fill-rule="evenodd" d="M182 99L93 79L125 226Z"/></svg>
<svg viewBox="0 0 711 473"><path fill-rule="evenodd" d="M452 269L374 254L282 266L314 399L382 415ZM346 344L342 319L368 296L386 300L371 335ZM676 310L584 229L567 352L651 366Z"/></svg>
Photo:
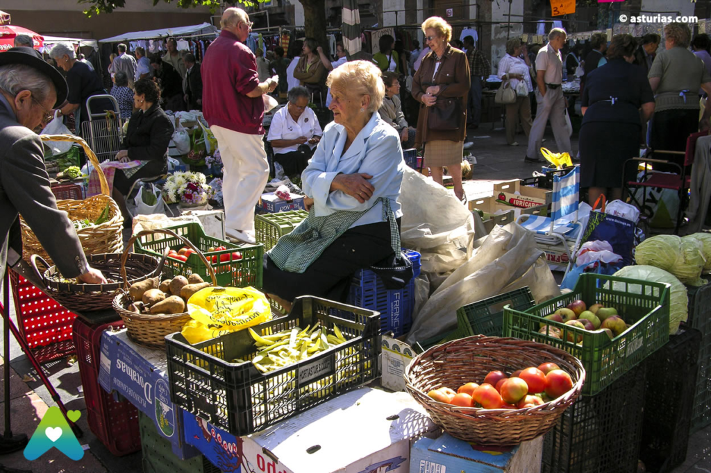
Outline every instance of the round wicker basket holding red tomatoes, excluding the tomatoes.
<svg viewBox="0 0 711 473"><path fill-rule="evenodd" d="M451 406L427 396L435 388L456 390L470 381L481 382L489 371L512 372L552 361L573 380L560 398L517 410ZM545 434L579 396L585 381L582 363L550 345L513 338L478 335L428 349L405 369L407 392L422 404L434 423L452 437L479 445L518 445Z"/></svg>

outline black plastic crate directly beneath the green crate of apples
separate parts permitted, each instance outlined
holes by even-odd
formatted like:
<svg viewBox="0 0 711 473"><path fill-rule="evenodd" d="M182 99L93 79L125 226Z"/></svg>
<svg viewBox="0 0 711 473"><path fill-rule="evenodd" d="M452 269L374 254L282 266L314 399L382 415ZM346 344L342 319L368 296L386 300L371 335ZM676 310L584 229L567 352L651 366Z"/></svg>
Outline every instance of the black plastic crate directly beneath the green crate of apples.
<svg viewBox="0 0 711 473"><path fill-rule="evenodd" d="M580 396L545 435L542 473L636 473L646 365Z"/></svg>

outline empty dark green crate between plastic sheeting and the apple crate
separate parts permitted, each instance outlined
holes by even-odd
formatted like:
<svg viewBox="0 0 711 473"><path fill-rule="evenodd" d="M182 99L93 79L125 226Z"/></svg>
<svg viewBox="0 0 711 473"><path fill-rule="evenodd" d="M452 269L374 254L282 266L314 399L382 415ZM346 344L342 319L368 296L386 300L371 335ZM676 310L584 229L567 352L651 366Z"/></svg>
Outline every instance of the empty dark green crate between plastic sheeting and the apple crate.
<svg viewBox="0 0 711 473"><path fill-rule="evenodd" d="M503 334L503 308L510 305L514 310L527 310L535 305L533 294L528 286L511 290L465 305L456 311L456 320L462 337L486 335L501 337Z"/></svg>

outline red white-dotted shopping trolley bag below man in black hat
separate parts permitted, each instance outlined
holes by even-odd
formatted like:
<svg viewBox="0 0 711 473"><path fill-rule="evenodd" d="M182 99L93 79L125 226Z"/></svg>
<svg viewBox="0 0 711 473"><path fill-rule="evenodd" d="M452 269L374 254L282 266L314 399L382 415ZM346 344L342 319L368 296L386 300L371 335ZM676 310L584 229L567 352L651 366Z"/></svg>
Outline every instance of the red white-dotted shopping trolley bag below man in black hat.
<svg viewBox="0 0 711 473"><path fill-rule="evenodd" d="M76 314L15 271L10 271L18 330L40 363L74 354L72 324Z"/></svg>

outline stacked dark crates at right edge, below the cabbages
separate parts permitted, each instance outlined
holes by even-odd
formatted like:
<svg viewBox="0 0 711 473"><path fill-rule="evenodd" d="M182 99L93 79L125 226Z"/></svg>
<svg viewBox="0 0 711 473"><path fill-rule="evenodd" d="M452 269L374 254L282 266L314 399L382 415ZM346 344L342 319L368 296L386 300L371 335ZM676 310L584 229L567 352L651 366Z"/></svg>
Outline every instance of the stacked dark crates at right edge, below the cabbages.
<svg viewBox="0 0 711 473"><path fill-rule="evenodd" d="M689 287L687 324L701 332L696 388L691 413L691 432L711 424L711 283Z"/></svg>

